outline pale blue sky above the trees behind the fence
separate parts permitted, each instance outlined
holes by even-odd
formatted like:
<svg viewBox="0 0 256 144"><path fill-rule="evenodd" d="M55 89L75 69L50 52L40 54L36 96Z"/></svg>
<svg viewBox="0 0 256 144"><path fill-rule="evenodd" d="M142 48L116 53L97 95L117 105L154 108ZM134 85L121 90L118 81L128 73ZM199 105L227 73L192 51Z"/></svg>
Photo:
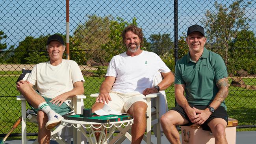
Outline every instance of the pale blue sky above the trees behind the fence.
<svg viewBox="0 0 256 144"><path fill-rule="evenodd" d="M234 0L219 3L229 6ZM247 1L245 1L247 2ZM143 28L145 37L152 33L174 34L174 2L167 0L70 0L70 35L73 35L78 24L84 23L87 15L96 14L104 17L111 15L131 22L133 17ZM206 10L213 8L214 1L178 0L179 36L186 33L192 24L201 24ZM256 3L246 10L246 16L252 19L250 30L255 30ZM1 43L15 45L26 36L66 33L66 1L65 0L2 0L0 1L0 30L7 39Z"/></svg>

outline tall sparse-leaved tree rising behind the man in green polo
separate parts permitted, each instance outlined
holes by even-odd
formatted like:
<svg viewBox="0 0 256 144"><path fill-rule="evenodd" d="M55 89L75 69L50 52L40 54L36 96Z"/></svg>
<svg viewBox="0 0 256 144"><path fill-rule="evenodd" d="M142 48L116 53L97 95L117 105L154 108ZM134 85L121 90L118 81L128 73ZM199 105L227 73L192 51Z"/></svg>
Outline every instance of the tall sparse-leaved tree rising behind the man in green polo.
<svg viewBox="0 0 256 144"><path fill-rule="evenodd" d="M215 2L215 11L206 11L205 18L202 23L205 25L208 45L206 47L215 51L213 48L224 48L218 52L224 57L227 64L228 48L232 39L236 39L239 30L248 29L249 19L245 16L245 8L251 2L243 5L244 0L236 0L230 6L218 4Z"/></svg>

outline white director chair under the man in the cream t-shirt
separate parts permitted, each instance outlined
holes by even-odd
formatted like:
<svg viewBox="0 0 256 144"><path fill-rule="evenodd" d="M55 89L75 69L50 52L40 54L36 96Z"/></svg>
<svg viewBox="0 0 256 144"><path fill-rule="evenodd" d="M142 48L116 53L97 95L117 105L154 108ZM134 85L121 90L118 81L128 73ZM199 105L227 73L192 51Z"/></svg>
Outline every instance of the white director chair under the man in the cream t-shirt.
<svg viewBox="0 0 256 144"><path fill-rule="evenodd" d="M82 109L84 107L83 105L83 99L86 98L86 96L84 95L76 95L73 97L72 100L72 105L74 107L74 110L70 113L76 113L76 114L82 114ZM21 134L22 134L22 144L26 144L27 139L26 139L26 118L28 118L28 120L30 122L34 122L37 123L37 119L36 119L36 114L31 110L28 109L28 111L26 111L26 99L24 98L24 96L17 96L17 100L21 101L21 115L22 115L22 121L21 121ZM56 129L54 131L51 132L51 139L56 140L56 142L58 142L59 144L67 144L71 143L71 137L69 139L67 139L67 142L65 142L66 138L62 138L61 135L59 135L59 133L61 133L61 130L63 129L62 125L59 125L58 127L56 127ZM78 133L77 129L73 129L73 136L74 136L74 140L76 140L75 137L81 137L81 135L79 135L80 133ZM38 141L35 140L35 142L33 142L33 144L38 144ZM74 144L76 144L76 142L74 141Z"/></svg>

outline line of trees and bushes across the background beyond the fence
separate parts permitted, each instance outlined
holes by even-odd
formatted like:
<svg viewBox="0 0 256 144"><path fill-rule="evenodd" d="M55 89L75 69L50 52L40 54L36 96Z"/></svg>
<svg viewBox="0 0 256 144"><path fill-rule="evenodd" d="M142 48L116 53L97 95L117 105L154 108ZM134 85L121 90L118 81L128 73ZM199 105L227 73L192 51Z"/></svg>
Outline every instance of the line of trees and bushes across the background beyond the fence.
<svg viewBox="0 0 256 144"><path fill-rule="evenodd" d="M237 0L225 6L215 2L215 11L206 11L201 21L205 26L207 44L206 48L220 54L227 67L228 73L236 74L244 69L249 74L256 74L256 37L254 31L249 30L250 19L245 17L245 8L241 6L243 0ZM121 32L129 24L137 25L136 18L132 22L111 16L99 17L87 15L88 20L79 24L70 36L70 59L80 65L86 65L87 61L94 61L99 65L106 65L114 55L126 50L122 42ZM61 35L61 34L59 34ZM8 50L6 43L0 43L1 63L39 63L48 61L46 53L46 41L49 35L41 35L34 38L27 36L19 46ZM62 35L65 38L65 35ZM174 42L170 33L155 33L143 40L143 49L160 55L163 61L174 71ZM0 41L6 39L6 35L0 31ZM178 57L188 52L186 35L178 40ZM63 56L65 57L65 55Z"/></svg>

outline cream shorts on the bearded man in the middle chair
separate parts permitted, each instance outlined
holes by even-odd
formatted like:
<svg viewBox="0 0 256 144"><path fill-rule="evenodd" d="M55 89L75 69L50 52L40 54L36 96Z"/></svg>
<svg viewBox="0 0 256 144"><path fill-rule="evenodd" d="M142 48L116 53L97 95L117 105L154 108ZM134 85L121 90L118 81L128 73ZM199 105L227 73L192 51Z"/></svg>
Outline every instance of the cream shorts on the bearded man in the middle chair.
<svg viewBox="0 0 256 144"><path fill-rule="evenodd" d="M108 106L118 111L119 113L126 113L135 102L147 103L146 97L143 94L130 92L109 92L111 101L108 102Z"/></svg>

